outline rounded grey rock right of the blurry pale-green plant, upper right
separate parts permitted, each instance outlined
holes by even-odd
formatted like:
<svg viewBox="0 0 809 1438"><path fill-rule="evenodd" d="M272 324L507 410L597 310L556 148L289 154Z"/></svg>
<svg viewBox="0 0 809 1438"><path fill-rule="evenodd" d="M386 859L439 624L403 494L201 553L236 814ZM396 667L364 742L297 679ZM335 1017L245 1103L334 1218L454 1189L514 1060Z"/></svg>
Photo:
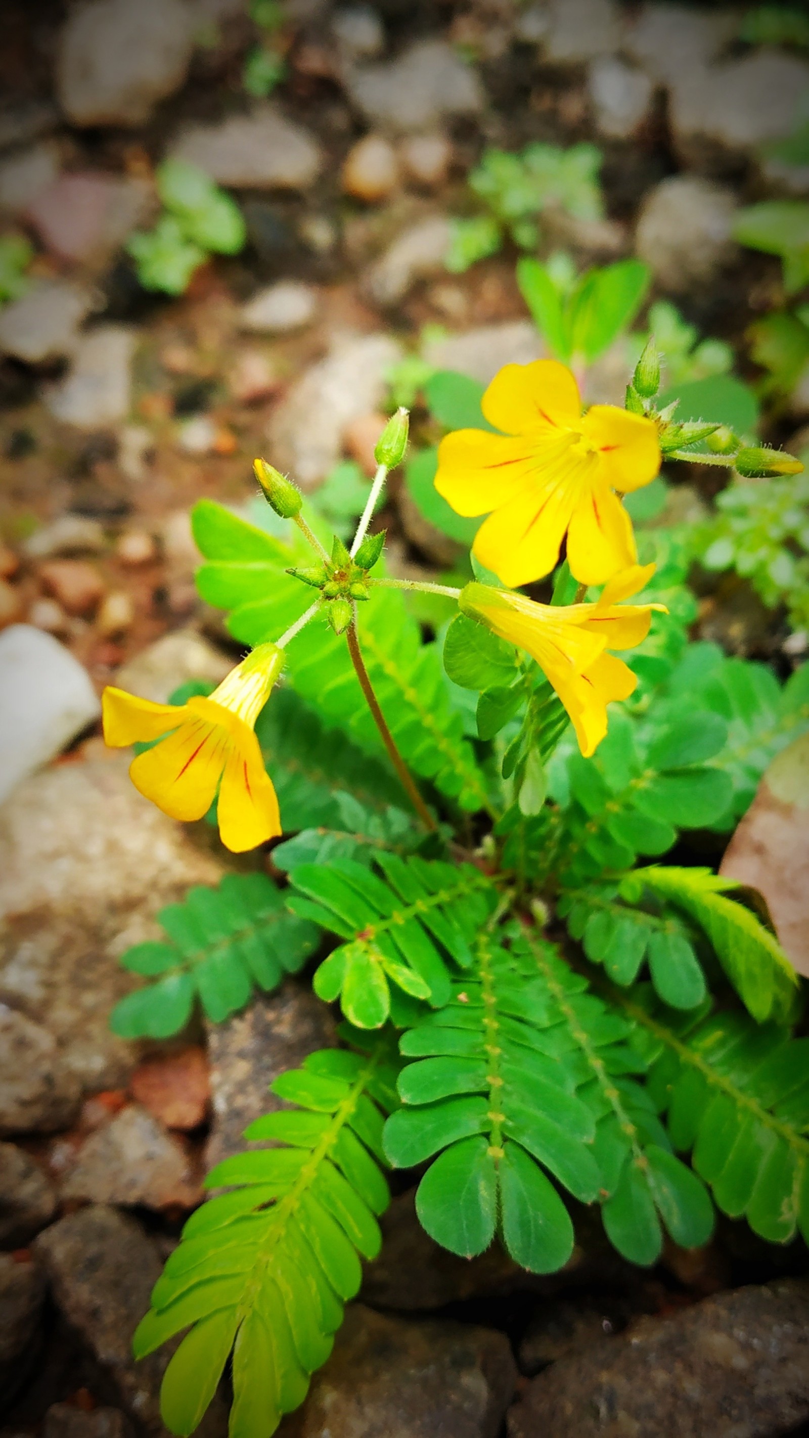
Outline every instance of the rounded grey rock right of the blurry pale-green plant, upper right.
<svg viewBox="0 0 809 1438"><path fill-rule="evenodd" d="M635 252L660 286L678 295L708 283L734 255L736 197L698 175L672 175L649 190L635 233Z"/></svg>

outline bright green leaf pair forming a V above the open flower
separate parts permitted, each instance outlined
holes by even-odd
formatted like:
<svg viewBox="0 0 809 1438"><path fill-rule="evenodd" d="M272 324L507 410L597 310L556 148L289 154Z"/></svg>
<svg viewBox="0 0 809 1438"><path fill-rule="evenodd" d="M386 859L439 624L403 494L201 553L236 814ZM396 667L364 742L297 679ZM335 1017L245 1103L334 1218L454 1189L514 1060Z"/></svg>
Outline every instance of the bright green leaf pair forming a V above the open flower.
<svg viewBox="0 0 809 1438"><path fill-rule="evenodd" d="M552 354L592 364L632 324L649 270L641 260L618 260L575 279L559 265L522 259L517 283Z"/></svg>

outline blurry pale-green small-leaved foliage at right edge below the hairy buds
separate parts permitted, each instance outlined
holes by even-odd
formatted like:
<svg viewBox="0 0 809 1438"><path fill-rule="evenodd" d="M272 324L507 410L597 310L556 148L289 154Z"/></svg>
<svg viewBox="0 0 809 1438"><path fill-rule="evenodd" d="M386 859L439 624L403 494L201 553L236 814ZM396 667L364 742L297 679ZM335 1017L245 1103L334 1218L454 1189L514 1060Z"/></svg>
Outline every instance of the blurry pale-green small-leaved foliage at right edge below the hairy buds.
<svg viewBox="0 0 809 1438"><path fill-rule="evenodd" d="M783 604L792 628L809 627L809 475L736 482L693 536L706 569L734 569L767 605Z"/></svg>

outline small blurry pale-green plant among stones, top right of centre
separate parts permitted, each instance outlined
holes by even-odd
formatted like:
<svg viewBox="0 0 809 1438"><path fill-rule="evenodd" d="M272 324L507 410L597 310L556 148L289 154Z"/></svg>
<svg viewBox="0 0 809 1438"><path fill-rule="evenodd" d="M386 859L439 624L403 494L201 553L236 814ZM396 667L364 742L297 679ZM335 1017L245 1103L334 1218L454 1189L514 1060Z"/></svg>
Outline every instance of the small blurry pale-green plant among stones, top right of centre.
<svg viewBox="0 0 809 1438"><path fill-rule="evenodd" d="M543 210L563 210L579 220L602 219L601 161L601 151L586 144L569 150L532 144L520 154L487 150L468 177L486 211L454 221L447 269L463 273L476 260L496 255L506 236L520 249L535 250L540 240L536 217Z"/></svg>

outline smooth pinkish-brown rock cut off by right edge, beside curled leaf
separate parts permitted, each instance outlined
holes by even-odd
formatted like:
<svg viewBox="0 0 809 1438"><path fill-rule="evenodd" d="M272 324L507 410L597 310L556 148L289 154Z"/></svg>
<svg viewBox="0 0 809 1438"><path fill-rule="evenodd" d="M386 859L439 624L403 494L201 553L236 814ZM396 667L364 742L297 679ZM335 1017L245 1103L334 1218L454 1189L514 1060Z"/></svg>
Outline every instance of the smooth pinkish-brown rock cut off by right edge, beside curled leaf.
<svg viewBox="0 0 809 1438"><path fill-rule="evenodd" d="M809 871L809 735L782 749L739 824L720 874L750 884L767 900L782 948L809 978L806 873Z"/></svg>

